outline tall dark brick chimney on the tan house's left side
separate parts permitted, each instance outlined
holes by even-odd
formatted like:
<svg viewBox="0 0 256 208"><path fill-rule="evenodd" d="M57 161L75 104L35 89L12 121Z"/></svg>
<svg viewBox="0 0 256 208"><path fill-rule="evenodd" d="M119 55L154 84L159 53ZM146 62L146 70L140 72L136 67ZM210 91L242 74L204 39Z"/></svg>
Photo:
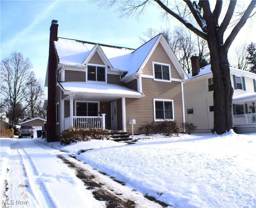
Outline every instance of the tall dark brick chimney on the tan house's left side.
<svg viewBox="0 0 256 208"><path fill-rule="evenodd" d="M56 69L57 57L54 50L54 41L58 40L57 20L52 20L50 27L50 43L48 57L48 106L47 106L47 136L48 142L58 141L56 136Z"/></svg>

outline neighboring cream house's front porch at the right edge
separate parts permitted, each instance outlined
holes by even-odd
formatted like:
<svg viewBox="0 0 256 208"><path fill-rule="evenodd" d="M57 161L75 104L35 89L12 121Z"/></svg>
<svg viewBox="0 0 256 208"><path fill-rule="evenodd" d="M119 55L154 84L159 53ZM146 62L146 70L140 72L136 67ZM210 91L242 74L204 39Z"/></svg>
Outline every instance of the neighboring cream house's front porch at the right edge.
<svg viewBox="0 0 256 208"><path fill-rule="evenodd" d="M233 126L238 133L256 132L256 93L244 93L234 96Z"/></svg>

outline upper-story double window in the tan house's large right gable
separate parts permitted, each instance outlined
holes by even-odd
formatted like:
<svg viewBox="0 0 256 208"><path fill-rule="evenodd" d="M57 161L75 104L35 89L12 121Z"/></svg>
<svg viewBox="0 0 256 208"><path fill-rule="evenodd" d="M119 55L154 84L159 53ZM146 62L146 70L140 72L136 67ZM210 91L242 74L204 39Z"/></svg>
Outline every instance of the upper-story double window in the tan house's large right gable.
<svg viewBox="0 0 256 208"><path fill-rule="evenodd" d="M169 81L171 77L170 65L153 63L153 73L155 80Z"/></svg>

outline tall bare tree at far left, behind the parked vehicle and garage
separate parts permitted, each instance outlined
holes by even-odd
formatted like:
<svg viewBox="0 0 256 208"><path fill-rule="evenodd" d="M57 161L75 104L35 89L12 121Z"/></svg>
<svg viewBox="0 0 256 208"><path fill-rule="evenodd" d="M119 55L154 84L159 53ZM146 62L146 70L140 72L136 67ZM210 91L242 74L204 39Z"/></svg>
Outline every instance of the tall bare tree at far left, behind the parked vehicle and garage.
<svg viewBox="0 0 256 208"><path fill-rule="evenodd" d="M33 75L31 69L32 63L28 58L24 59L21 53L13 52L1 61L0 95L6 100L12 126L27 107L23 103L27 96L26 87Z"/></svg>

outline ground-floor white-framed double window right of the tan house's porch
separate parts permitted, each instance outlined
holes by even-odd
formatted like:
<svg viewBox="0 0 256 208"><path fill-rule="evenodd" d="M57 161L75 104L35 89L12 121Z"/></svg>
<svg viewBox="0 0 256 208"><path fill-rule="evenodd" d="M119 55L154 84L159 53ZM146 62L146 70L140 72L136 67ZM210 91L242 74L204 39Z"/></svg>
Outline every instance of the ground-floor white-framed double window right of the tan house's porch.
<svg viewBox="0 0 256 208"><path fill-rule="evenodd" d="M154 120L174 119L173 100L154 99Z"/></svg>

